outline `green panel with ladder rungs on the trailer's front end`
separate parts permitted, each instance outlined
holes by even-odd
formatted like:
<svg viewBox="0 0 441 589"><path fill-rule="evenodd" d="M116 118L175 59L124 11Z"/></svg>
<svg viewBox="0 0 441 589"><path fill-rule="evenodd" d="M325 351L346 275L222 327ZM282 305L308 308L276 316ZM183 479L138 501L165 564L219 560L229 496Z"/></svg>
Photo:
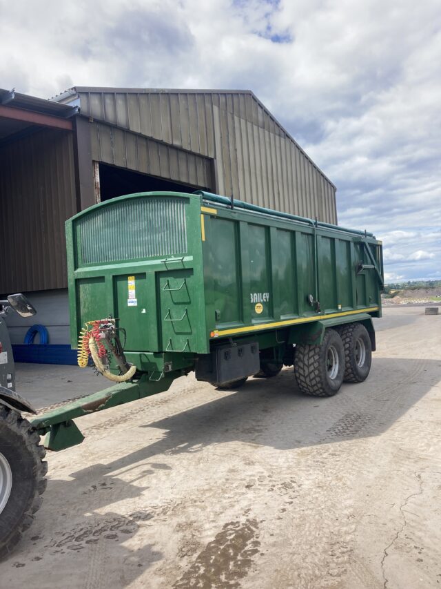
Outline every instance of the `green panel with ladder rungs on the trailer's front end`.
<svg viewBox="0 0 441 589"><path fill-rule="evenodd" d="M203 309L194 308L192 269L158 273L158 334L162 351L195 351L196 322Z"/></svg>

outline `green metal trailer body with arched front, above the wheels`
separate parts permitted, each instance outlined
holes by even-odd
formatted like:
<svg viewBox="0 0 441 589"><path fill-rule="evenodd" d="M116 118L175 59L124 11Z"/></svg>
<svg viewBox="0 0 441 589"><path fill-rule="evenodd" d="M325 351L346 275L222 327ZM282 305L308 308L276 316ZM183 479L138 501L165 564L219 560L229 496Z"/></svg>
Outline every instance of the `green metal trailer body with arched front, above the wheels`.
<svg viewBox="0 0 441 589"><path fill-rule="evenodd" d="M216 199L140 193L67 222L73 347L85 322L113 316L127 360L161 374L158 355L174 370L221 340L265 347L269 332L288 329L291 343L320 342L316 322L380 316L371 234Z"/></svg>

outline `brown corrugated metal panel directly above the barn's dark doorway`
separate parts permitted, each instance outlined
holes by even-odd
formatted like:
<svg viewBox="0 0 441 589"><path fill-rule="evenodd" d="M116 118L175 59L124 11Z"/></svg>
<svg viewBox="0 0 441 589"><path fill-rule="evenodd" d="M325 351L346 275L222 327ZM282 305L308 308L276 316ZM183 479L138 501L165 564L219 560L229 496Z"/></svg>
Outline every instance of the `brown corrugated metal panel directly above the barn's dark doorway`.
<svg viewBox="0 0 441 589"><path fill-rule="evenodd" d="M92 160L214 189L212 160L99 122L90 128Z"/></svg>

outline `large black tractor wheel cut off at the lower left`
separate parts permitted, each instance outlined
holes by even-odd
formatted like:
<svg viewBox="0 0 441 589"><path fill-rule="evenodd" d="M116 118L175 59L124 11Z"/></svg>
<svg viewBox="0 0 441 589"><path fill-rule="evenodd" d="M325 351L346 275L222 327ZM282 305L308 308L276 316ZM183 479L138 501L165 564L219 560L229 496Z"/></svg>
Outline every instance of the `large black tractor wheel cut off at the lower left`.
<svg viewBox="0 0 441 589"><path fill-rule="evenodd" d="M44 456L29 421L0 407L0 559L12 552L40 508L48 471Z"/></svg>

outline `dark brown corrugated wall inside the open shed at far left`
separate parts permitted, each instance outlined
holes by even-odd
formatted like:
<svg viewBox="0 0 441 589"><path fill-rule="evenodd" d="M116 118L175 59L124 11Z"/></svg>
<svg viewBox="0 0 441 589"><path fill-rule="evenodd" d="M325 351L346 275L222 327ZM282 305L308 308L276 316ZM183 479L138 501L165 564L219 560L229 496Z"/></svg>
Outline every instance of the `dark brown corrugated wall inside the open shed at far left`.
<svg viewBox="0 0 441 589"><path fill-rule="evenodd" d="M64 222L76 213L72 133L0 147L0 292L67 287Z"/></svg>

